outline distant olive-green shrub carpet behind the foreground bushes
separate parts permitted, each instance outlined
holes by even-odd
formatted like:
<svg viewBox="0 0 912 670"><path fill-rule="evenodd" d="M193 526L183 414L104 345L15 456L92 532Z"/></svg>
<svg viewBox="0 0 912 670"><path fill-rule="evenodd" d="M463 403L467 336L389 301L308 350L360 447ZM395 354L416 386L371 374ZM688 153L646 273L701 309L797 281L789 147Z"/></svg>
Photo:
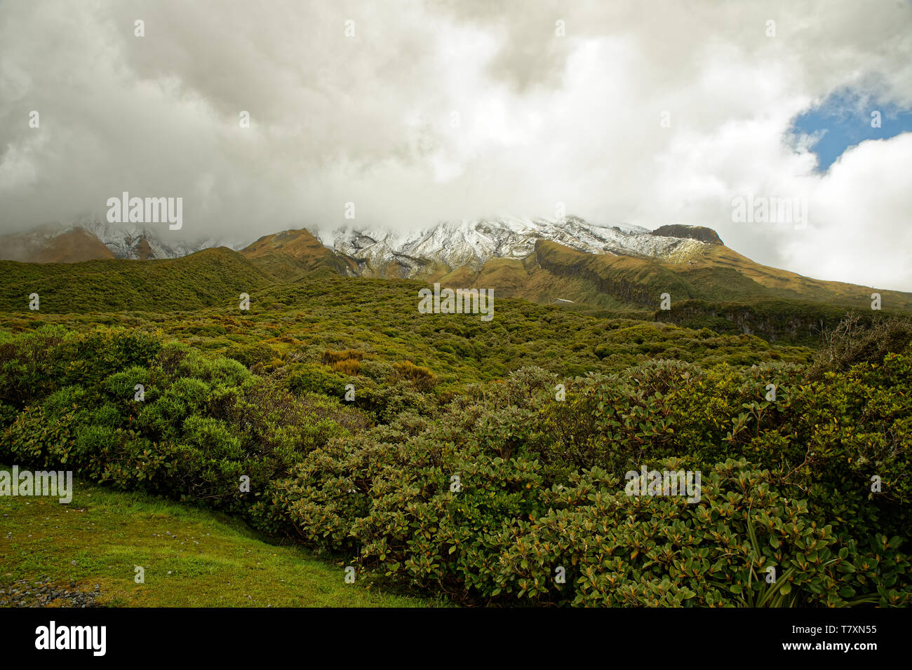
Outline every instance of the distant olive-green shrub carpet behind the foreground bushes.
<svg viewBox="0 0 912 670"><path fill-rule="evenodd" d="M236 294L223 294L218 307L197 309L188 304L186 309L192 311L187 312L164 311L174 308L170 302L146 299L140 307L145 311L102 314L84 312L92 303L82 300L69 309L46 312L45 304L53 304L48 295L41 311L28 312L27 294L23 294L23 312L0 313L0 329L16 333L65 325L85 332L98 325L123 325L228 356L255 374L294 376L299 388L339 399L344 398L351 376L386 385L377 375L387 371L371 369L371 363L408 361L428 368L434 378L429 377L425 387L432 386L436 396L446 397L461 393L468 384L503 379L523 366L539 366L561 376L585 376L620 372L651 358L678 358L703 366L751 366L763 361L808 363L814 356L810 348L771 346L752 335L593 318L506 298L497 299L497 316L490 323L477 316L419 314L417 294L424 285L313 273L292 284L240 289L250 294L251 308L244 312L238 310ZM132 301L125 298L124 303ZM99 303L96 309L107 304ZM348 360L358 361L358 368L345 363ZM342 367L334 370L334 364ZM358 383L356 387L360 388ZM357 396L360 401L361 394Z"/></svg>

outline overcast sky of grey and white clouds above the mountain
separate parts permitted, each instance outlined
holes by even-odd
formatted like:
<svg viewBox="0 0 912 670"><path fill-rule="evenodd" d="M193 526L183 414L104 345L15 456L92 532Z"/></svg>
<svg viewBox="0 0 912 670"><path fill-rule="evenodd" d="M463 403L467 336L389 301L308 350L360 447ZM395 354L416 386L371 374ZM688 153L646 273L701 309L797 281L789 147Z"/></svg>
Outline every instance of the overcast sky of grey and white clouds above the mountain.
<svg viewBox="0 0 912 670"><path fill-rule="evenodd" d="M836 99L871 139L823 171L828 129L790 129ZM0 0L0 232L121 191L183 198L165 238L236 242L347 201L399 229L563 202L912 291L912 132L869 128L910 108L907 0ZM748 193L806 197L806 229L732 222Z"/></svg>

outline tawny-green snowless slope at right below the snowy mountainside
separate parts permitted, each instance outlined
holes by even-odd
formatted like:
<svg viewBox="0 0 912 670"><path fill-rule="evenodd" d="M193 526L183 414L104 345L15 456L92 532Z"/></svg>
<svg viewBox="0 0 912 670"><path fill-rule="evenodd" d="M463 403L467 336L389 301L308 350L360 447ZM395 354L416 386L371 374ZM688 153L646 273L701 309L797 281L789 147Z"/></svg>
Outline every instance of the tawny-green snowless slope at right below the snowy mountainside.
<svg viewBox="0 0 912 670"><path fill-rule="evenodd" d="M871 310L872 290L822 282L753 263L721 244L705 244L697 260L582 253L555 242L536 243L523 260L494 259L478 271L458 268L441 285L493 289L495 295L562 304L575 311L709 327L719 333L760 335L769 341L813 344L855 309L863 320L912 311L912 294L879 291L883 312ZM670 310L660 309L662 294Z"/></svg>

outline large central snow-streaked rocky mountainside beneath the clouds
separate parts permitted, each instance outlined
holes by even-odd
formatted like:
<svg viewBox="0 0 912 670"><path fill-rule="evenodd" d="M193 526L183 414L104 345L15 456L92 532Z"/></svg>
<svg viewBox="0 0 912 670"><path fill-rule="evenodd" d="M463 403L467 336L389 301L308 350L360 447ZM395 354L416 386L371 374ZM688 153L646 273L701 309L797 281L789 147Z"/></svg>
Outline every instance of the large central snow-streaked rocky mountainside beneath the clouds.
<svg viewBox="0 0 912 670"><path fill-rule="evenodd" d="M524 258L537 240L550 240L586 253L682 260L708 242L656 235L627 223L597 224L570 216L565 220L499 217L440 222L420 231L397 233L355 228L316 232L317 239L338 253L363 259L367 273L415 277L428 263L473 270L492 258Z"/></svg>

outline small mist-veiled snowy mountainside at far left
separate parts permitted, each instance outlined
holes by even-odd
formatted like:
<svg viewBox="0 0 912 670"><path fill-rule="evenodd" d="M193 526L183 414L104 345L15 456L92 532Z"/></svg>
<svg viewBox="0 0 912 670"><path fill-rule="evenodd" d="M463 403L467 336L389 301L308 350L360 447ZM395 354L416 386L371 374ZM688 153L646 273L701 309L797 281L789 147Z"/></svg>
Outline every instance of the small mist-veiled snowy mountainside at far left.
<svg viewBox="0 0 912 670"><path fill-rule="evenodd" d="M109 223L91 214L78 216L62 228L65 231L83 228L108 247L115 258L130 260L179 258L210 247L231 246L233 249L238 249L243 246L228 244L214 238L169 239L166 242L165 236L161 232L161 226L156 229L144 223ZM165 226L165 232L167 230L167 226Z"/></svg>

